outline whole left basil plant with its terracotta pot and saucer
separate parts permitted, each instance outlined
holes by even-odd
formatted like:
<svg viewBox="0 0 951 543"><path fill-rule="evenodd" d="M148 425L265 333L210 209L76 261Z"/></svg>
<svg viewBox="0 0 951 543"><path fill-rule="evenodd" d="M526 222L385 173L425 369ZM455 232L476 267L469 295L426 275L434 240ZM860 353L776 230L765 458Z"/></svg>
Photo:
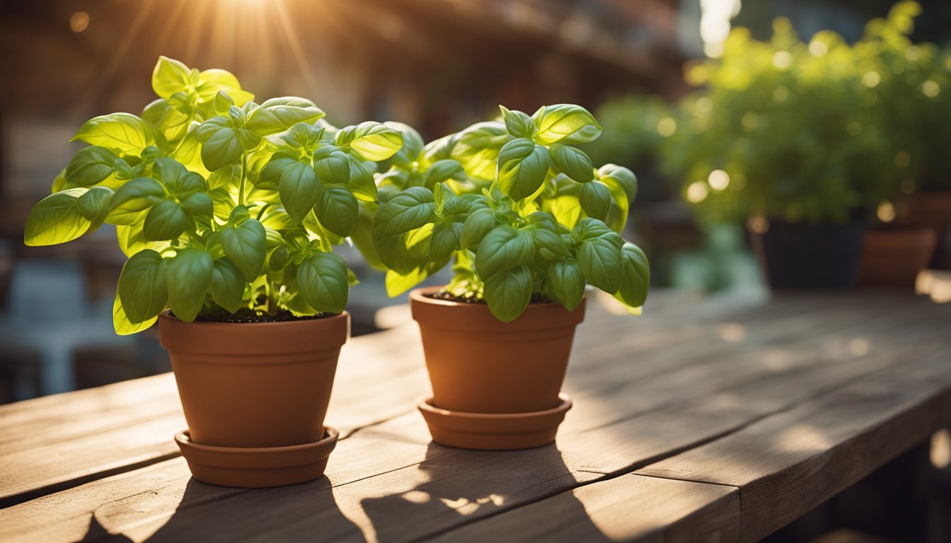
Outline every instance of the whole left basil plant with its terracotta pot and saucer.
<svg viewBox="0 0 951 543"><path fill-rule="evenodd" d="M159 321L196 478L276 486L319 477L337 432L323 418L356 280L333 247L376 198L373 161L398 130L340 130L302 98L261 104L220 69L161 57L141 116L88 121L32 209L29 245L114 224L128 261L116 332Z"/></svg>

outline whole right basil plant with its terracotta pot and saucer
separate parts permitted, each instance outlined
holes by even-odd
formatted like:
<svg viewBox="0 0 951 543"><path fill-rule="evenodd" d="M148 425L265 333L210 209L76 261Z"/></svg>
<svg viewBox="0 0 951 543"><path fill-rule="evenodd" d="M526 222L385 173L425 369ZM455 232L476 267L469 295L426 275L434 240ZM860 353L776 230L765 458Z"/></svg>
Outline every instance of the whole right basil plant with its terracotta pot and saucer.
<svg viewBox="0 0 951 543"><path fill-rule="evenodd" d="M639 309L650 281L620 235L634 175L572 146L601 132L592 115L502 113L391 165L369 232L393 296L452 262L449 284L410 295L433 385L418 408L435 441L472 449L552 442L586 283Z"/></svg>

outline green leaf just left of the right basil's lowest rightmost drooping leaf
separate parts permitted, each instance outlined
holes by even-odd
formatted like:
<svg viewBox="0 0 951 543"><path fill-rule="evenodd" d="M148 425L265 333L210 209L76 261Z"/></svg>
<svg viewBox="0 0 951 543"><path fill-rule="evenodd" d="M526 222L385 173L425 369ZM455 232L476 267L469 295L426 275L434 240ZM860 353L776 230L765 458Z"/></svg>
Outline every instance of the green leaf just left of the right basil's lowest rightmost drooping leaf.
<svg viewBox="0 0 951 543"><path fill-rule="evenodd" d="M613 294L621 286L621 245L624 241L605 223L582 219L574 229L575 258L585 280Z"/></svg>

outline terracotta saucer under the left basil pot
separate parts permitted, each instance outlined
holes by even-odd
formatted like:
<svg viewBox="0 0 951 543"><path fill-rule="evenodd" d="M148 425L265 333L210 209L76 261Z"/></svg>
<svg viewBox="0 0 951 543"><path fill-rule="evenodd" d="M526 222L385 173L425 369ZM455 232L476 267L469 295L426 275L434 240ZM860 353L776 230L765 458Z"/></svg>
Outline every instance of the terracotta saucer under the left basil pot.
<svg viewBox="0 0 951 543"><path fill-rule="evenodd" d="M280 487L323 475L327 457L340 434L323 427L323 438L288 447L215 447L195 443L184 430L175 442L191 475L204 483L227 487Z"/></svg>

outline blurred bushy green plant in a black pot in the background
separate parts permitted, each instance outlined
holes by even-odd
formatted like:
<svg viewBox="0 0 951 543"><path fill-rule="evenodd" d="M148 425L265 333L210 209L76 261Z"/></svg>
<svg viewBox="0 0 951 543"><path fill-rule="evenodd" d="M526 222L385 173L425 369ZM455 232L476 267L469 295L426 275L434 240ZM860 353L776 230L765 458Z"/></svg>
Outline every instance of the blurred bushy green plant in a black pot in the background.
<svg viewBox="0 0 951 543"><path fill-rule="evenodd" d="M706 90L664 152L701 220L747 223L773 288L855 284L865 219L897 191L879 83L832 32L769 42L734 29L723 56L688 68Z"/></svg>

